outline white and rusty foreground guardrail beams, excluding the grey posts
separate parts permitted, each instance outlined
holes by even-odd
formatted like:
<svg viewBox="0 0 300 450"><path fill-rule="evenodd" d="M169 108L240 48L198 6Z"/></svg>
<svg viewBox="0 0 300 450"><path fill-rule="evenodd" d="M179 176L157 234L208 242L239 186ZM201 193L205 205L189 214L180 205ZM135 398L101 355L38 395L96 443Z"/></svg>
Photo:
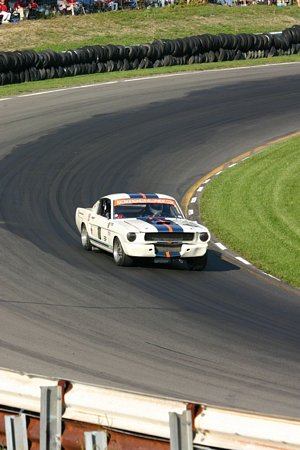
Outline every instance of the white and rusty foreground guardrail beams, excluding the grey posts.
<svg viewBox="0 0 300 450"><path fill-rule="evenodd" d="M299 419L232 411L5 369L0 370L0 443L6 442L4 416L26 411L30 450L39 448L41 387L49 386L61 389L58 398L62 403L63 432L59 442L65 450L82 450L84 432L100 429L110 435L108 448L166 450L170 448L170 414L180 418L186 412L191 414L194 447L231 450L300 448Z"/></svg>

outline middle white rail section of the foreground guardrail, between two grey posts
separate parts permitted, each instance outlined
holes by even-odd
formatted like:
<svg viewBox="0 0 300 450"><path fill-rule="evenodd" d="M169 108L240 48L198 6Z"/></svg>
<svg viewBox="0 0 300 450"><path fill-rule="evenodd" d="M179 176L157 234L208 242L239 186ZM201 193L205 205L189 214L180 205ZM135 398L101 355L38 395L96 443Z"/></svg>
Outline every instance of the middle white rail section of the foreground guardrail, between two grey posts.
<svg viewBox="0 0 300 450"><path fill-rule="evenodd" d="M169 412L181 414L186 408L187 402L73 383L63 417L169 439Z"/></svg>

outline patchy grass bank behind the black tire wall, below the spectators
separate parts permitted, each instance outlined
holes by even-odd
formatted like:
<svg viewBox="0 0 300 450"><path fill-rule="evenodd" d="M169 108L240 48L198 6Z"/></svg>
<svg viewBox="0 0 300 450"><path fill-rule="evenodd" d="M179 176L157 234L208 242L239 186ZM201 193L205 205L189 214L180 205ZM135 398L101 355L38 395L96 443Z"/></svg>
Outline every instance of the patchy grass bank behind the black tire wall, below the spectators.
<svg viewBox="0 0 300 450"><path fill-rule="evenodd" d="M174 39L204 33L282 31L295 24L300 24L297 6L178 5L11 23L1 27L0 44L1 51L26 48L61 51L83 45L142 44L156 38Z"/></svg>

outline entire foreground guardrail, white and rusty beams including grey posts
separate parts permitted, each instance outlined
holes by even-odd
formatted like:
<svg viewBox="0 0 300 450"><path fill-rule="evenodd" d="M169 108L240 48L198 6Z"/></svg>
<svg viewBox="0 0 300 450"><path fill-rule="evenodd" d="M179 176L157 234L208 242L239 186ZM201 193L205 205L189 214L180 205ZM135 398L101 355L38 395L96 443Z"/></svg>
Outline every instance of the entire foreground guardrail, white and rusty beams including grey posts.
<svg viewBox="0 0 300 450"><path fill-rule="evenodd" d="M7 450L300 448L299 419L6 370L0 370L0 405L0 443Z"/></svg>

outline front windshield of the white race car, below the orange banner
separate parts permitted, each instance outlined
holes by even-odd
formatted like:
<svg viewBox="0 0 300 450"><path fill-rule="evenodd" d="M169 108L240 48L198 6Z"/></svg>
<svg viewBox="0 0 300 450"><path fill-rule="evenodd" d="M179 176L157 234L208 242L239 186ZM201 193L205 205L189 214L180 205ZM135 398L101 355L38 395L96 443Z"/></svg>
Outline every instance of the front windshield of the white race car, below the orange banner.
<svg viewBox="0 0 300 450"><path fill-rule="evenodd" d="M183 218L175 203L128 203L115 205L114 218L115 219L130 219L139 217L163 217L163 218Z"/></svg>

